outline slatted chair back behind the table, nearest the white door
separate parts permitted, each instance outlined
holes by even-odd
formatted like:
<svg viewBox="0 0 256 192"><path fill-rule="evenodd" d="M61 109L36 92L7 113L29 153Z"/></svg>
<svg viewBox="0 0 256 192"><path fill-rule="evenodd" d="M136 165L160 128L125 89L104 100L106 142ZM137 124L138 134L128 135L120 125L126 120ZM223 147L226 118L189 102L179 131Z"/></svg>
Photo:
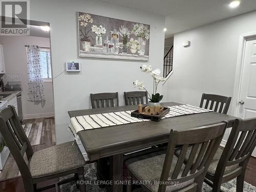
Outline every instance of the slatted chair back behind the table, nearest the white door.
<svg viewBox="0 0 256 192"><path fill-rule="evenodd" d="M203 107L204 100L206 100L206 102ZM231 97L203 93L201 102L200 102L200 108L210 109L210 110L214 110L215 112L218 112L218 113L227 114L230 101L231 101ZM209 105L209 102L210 102L210 105ZM219 104L220 104L220 106L219 106ZM224 106L224 104L225 104L225 106ZM223 106L224 106L224 109L223 109Z"/></svg>

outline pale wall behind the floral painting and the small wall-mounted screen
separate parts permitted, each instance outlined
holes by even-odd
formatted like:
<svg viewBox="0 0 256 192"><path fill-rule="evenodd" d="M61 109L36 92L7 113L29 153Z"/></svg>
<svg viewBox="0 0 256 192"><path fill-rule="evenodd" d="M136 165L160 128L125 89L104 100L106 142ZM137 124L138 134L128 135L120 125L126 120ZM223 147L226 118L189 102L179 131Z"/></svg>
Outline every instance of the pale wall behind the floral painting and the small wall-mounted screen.
<svg viewBox="0 0 256 192"><path fill-rule="evenodd" d="M151 90L152 79L140 72L144 62L105 60L78 57L77 11L131 20L151 25L150 61L153 68L162 68L165 18L160 15L112 5L100 1L30 1L32 20L49 22L53 57L53 84L57 142L72 139L64 131L70 121L68 111L89 109L90 93L119 92L119 104L123 105L123 92L134 91L132 83L143 80ZM67 74L65 62L79 60L80 74ZM63 73L62 73L63 72ZM161 90L160 90L161 91Z"/></svg>

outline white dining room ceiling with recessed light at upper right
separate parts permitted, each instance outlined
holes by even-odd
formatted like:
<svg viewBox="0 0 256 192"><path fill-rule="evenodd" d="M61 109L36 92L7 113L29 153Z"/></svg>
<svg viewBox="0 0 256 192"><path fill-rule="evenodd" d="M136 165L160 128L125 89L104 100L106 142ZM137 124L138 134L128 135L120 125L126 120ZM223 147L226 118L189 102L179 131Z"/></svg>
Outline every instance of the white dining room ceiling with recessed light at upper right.
<svg viewBox="0 0 256 192"><path fill-rule="evenodd" d="M148 11L165 17L165 37L217 20L256 10L255 0L240 0L239 7L228 7L232 0L100 0Z"/></svg>

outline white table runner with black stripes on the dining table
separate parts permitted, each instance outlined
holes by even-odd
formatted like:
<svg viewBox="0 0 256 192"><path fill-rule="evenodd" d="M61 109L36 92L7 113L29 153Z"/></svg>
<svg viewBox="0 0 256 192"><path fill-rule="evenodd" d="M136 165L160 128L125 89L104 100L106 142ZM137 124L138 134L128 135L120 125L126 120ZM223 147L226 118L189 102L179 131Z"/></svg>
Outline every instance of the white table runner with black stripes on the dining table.
<svg viewBox="0 0 256 192"><path fill-rule="evenodd" d="M162 119L176 117L181 115L196 114L196 113L206 113L212 110L206 110L192 106L189 104L168 106L170 108L169 113L167 113ZM140 119L131 116L133 111L121 111L112 113L102 113L95 115L84 115L72 117L70 119L69 129L72 131L73 135L76 136L77 132L83 130L90 130L100 127L115 126L120 124L136 123L143 121L150 121L148 119Z"/></svg>

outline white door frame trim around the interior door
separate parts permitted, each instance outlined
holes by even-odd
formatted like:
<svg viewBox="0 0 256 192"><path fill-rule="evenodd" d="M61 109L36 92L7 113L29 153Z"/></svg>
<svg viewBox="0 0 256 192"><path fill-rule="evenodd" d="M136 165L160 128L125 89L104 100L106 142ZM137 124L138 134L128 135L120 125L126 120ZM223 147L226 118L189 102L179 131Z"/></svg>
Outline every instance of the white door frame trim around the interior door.
<svg viewBox="0 0 256 192"><path fill-rule="evenodd" d="M243 33L239 36L238 58L237 58L236 73L234 76L234 91L233 91L233 99L232 99L232 113L234 116L238 115L238 104L239 104L239 97L240 97L240 91L241 91L243 67L244 67L245 44L246 44L246 39L250 37L256 37L256 31Z"/></svg>

